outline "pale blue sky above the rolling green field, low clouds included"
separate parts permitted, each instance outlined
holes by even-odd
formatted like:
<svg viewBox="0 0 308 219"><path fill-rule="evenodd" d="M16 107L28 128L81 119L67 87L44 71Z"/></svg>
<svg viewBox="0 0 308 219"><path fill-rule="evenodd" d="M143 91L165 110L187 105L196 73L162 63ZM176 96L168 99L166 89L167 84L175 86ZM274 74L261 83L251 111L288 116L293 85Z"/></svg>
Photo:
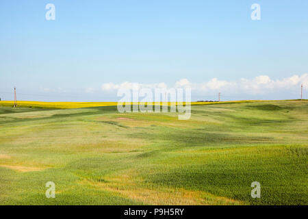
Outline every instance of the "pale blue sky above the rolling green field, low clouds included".
<svg viewBox="0 0 308 219"><path fill-rule="evenodd" d="M55 5L55 21L45 19L47 3ZM253 3L261 5L261 21L251 20ZM225 100L295 99L300 83L307 94L307 60L305 0L0 3L5 100L16 86L22 100L116 101L104 84L172 87L183 79L200 88L193 100L218 92Z"/></svg>

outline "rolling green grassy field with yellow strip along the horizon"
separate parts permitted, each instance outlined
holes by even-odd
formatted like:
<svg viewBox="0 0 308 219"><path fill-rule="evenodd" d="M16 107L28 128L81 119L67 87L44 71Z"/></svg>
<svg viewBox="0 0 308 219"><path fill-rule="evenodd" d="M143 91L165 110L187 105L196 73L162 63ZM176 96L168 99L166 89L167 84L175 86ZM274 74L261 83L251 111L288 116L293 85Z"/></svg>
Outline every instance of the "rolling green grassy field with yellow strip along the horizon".
<svg viewBox="0 0 308 219"><path fill-rule="evenodd" d="M308 204L308 101L198 103L190 120L102 104L0 102L0 205Z"/></svg>

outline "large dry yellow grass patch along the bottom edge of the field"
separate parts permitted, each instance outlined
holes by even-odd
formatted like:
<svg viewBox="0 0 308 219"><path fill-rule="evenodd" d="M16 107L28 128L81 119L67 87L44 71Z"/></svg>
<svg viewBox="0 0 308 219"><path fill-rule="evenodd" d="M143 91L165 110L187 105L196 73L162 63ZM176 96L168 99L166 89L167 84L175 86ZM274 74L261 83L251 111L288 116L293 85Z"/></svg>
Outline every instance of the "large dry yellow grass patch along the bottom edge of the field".
<svg viewBox="0 0 308 219"><path fill-rule="evenodd" d="M190 191L183 188L144 188L138 183L142 179L136 176L134 169L125 170L120 175L106 179L105 183L90 179L83 179L79 183L113 192L145 205L244 205L242 201L202 191Z"/></svg>

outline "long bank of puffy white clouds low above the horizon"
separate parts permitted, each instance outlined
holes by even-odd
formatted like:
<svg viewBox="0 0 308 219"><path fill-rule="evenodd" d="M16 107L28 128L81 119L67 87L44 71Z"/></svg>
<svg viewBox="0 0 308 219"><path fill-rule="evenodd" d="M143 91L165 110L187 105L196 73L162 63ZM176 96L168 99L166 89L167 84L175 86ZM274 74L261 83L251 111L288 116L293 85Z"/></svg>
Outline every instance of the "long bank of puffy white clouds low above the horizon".
<svg viewBox="0 0 308 219"><path fill-rule="evenodd" d="M140 89L140 88L191 88L192 92L199 94L214 94L216 92L224 92L227 94L268 94L272 92L280 92L281 90L296 91L303 83L303 88L308 90L308 74L293 75L282 79L271 79L268 75L259 75L253 79L241 78L233 81L220 80L214 77L209 81L191 82L188 79L180 79L173 86L166 83L137 83L125 81L123 83L103 83L101 90L104 92L116 92L120 88ZM87 90L93 90L87 88Z"/></svg>

